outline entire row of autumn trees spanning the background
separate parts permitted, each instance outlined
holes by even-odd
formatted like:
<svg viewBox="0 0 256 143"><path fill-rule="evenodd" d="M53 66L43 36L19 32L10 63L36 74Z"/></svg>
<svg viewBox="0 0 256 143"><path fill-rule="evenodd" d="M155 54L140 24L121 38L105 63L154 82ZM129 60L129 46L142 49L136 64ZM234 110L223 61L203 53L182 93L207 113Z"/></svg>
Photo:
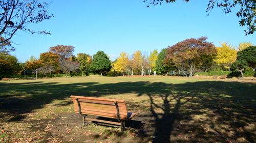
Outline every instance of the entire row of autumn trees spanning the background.
<svg viewBox="0 0 256 143"><path fill-rule="evenodd" d="M15 56L10 54L10 51L15 49L8 41L0 45L0 71L2 76L17 74L24 69L37 69L45 76L52 73L66 73L68 76L71 72L145 75L153 71L159 74L168 74L170 71L173 74L189 73L189 76L193 76L195 71L255 70L256 49L252 43L240 43L236 50L227 42L215 47L212 42L206 40L207 37L186 39L162 49L159 53L153 50L149 55L139 50L131 56L122 52L114 62L111 62L103 51L98 51L93 57L86 53L78 53L75 56L74 46L57 45L41 53L39 59L31 56L26 63L18 63Z"/></svg>

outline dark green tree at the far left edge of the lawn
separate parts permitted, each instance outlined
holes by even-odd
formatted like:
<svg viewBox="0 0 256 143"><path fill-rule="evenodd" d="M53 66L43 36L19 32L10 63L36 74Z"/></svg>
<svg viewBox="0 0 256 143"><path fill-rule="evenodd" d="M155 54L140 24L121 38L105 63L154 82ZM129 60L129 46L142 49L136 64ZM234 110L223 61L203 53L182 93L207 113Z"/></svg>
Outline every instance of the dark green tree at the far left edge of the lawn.
<svg viewBox="0 0 256 143"><path fill-rule="evenodd" d="M17 74L22 70L15 56L8 53L0 53L0 78Z"/></svg>

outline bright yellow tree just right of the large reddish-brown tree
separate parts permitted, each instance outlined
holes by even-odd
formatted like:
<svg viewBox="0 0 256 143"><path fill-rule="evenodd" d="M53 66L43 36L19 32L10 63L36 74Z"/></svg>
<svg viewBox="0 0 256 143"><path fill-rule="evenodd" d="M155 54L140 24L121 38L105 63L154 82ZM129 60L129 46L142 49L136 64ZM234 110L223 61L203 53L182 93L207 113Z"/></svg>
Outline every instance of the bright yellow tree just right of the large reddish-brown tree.
<svg viewBox="0 0 256 143"><path fill-rule="evenodd" d="M228 42L221 42L221 46L217 47L216 62L222 70L230 70L230 66L237 60L237 50Z"/></svg>

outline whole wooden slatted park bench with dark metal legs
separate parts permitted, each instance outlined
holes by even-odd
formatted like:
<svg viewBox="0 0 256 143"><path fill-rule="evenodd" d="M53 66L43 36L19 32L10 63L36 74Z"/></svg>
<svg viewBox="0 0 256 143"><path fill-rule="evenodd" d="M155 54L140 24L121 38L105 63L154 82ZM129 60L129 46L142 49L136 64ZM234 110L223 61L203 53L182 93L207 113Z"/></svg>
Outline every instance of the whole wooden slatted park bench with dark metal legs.
<svg viewBox="0 0 256 143"><path fill-rule="evenodd" d="M137 115L137 113L134 112L127 112L127 107L124 100L73 95L71 98L74 102L75 112L80 113L82 116L83 126L88 125L88 121L95 121L121 126L121 132L123 132L125 129L125 121L131 120ZM88 115L117 119L117 122L92 119L88 118Z"/></svg>

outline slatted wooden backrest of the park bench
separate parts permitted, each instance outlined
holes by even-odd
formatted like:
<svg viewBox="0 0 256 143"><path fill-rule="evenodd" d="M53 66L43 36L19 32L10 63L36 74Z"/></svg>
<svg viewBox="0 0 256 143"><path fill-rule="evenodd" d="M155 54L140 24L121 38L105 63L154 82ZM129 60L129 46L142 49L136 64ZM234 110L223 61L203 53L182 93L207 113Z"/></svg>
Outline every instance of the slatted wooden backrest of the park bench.
<svg viewBox="0 0 256 143"><path fill-rule="evenodd" d="M79 105L81 113L84 115L93 115L98 117L106 117L117 119L117 108L119 109L119 116L121 120L127 119L127 108L124 100L119 99L106 99L96 97L84 97L84 96L71 96L75 112L79 113ZM78 100L78 102L77 102ZM115 104L116 102L116 104Z"/></svg>

